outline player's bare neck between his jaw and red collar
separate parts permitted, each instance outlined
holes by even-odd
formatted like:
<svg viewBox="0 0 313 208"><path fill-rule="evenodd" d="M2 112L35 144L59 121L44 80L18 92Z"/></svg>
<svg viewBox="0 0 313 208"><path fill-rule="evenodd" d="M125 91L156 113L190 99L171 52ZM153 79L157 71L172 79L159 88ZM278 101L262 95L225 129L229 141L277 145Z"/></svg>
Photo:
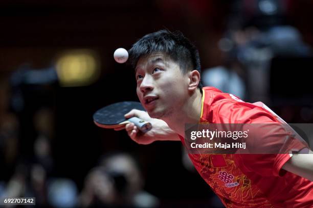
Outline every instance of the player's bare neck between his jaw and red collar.
<svg viewBox="0 0 313 208"><path fill-rule="evenodd" d="M169 118L164 121L169 125L177 134L185 135L186 123L198 123L201 116L202 109L202 93L196 90L188 100L184 103L181 109L173 112Z"/></svg>

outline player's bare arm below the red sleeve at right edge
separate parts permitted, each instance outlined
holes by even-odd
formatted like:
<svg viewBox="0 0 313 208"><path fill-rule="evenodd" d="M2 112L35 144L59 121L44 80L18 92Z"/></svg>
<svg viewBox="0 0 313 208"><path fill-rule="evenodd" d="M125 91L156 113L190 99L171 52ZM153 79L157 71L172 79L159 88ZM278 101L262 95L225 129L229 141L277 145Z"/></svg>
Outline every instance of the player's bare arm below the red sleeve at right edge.
<svg viewBox="0 0 313 208"><path fill-rule="evenodd" d="M313 152L307 148L303 150L306 150L306 152L309 151L309 153L294 154L293 157L283 165L282 169L313 181Z"/></svg>

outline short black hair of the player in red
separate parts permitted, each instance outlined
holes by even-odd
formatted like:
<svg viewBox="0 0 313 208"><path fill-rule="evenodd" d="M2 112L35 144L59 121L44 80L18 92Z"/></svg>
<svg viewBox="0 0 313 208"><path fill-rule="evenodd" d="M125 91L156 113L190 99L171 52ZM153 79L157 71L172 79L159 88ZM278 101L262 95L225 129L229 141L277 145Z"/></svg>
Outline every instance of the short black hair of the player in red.
<svg viewBox="0 0 313 208"><path fill-rule="evenodd" d="M167 54L180 66L183 74L194 69L201 73L197 48L180 31L160 30L145 35L129 49L129 63L135 68L141 57L158 52ZM201 81L198 87L202 88Z"/></svg>

